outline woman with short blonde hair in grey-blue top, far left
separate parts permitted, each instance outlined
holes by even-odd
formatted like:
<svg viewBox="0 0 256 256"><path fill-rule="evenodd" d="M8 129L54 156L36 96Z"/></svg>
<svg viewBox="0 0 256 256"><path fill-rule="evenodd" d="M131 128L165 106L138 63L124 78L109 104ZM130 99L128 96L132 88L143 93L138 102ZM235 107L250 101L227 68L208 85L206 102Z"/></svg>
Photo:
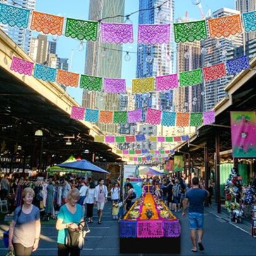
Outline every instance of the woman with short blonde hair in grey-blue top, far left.
<svg viewBox="0 0 256 256"><path fill-rule="evenodd" d="M37 250L41 231L40 212L32 204L35 192L25 188L22 192L22 205L15 209L9 226L9 250L17 256L29 256Z"/></svg>

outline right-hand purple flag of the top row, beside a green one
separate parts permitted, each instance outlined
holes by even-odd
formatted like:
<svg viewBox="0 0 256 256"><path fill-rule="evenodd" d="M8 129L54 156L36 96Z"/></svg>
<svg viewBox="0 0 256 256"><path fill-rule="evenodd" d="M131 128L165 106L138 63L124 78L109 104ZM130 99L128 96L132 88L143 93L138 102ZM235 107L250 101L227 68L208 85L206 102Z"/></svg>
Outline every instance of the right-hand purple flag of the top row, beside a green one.
<svg viewBox="0 0 256 256"><path fill-rule="evenodd" d="M168 44L170 41L170 24L138 25L139 44Z"/></svg>

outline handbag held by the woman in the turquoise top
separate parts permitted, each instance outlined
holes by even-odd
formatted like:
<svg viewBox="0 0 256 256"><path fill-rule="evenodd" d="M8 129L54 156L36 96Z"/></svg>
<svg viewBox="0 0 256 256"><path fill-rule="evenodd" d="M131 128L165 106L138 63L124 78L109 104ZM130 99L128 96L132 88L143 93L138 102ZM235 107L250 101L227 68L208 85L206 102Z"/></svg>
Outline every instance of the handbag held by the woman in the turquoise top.
<svg viewBox="0 0 256 256"><path fill-rule="evenodd" d="M85 224L87 226L86 222ZM77 229L68 228L65 245L70 248L79 248L80 250L82 250L83 246L85 245L85 236L89 232L90 229L88 229L88 226L87 231L83 229L82 222L78 224Z"/></svg>

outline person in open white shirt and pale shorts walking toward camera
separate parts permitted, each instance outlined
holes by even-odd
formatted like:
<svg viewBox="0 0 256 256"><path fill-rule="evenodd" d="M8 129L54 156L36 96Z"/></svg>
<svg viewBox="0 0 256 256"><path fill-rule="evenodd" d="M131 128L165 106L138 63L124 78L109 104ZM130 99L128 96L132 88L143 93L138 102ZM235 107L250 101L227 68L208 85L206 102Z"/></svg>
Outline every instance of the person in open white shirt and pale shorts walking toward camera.
<svg viewBox="0 0 256 256"><path fill-rule="evenodd" d="M97 185L95 188L94 199L97 203L97 210L99 216L98 224L101 224L104 205L107 202L107 187L104 185L103 179L99 179L99 185Z"/></svg>

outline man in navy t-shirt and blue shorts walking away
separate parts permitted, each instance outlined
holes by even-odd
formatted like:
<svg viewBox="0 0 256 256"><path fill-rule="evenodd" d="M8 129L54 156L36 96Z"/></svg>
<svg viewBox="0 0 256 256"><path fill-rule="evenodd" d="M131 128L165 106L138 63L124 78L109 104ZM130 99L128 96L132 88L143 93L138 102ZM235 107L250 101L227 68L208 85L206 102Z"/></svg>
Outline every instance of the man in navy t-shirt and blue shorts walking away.
<svg viewBox="0 0 256 256"><path fill-rule="evenodd" d="M182 216L185 217L185 210L188 207L188 219L190 224L190 237L192 240L192 252L197 252L197 234L198 232L198 247L200 251L204 250L202 244L202 237L204 234L204 201L209 196L209 192L204 188L199 187L199 180L197 177L192 179L193 188L186 193L183 200Z"/></svg>

